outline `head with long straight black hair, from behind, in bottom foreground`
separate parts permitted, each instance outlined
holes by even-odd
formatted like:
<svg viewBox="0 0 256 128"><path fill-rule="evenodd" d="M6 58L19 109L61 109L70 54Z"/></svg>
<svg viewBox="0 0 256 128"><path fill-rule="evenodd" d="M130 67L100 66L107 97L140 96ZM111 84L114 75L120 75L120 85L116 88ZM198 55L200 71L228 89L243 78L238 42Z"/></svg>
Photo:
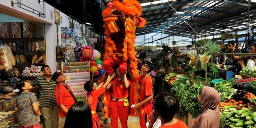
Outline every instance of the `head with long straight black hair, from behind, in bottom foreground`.
<svg viewBox="0 0 256 128"><path fill-rule="evenodd" d="M90 105L76 102L68 111L64 128L92 128L92 122Z"/></svg>

